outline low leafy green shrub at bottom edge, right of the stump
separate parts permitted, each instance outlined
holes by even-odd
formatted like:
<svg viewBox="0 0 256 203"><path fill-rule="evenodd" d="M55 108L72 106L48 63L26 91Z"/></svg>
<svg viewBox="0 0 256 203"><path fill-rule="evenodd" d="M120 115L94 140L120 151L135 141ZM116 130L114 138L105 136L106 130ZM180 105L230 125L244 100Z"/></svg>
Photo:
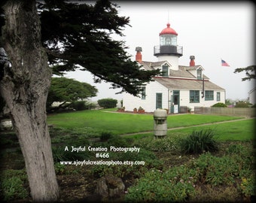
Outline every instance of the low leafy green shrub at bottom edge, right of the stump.
<svg viewBox="0 0 256 203"><path fill-rule="evenodd" d="M128 189L127 202L174 202L186 201L195 193L195 171L184 166L169 171L151 169Z"/></svg>

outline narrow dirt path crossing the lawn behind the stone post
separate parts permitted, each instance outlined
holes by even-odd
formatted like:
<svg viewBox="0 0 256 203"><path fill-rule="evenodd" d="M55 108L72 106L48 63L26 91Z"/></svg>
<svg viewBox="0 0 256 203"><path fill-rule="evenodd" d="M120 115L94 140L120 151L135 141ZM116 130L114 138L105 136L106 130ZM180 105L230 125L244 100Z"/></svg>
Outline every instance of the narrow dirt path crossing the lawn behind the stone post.
<svg viewBox="0 0 256 203"><path fill-rule="evenodd" d="M191 128L191 127L197 127L197 126L210 126L210 125L214 125L214 124L220 124L220 123L233 123L239 120L250 120L250 119L254 119L254 117L246 117L246 118L242 118L242 119L237 119L237 120L224 120L224 121L220 121L220 122L215 122L215 123L203 123L203 124L199 124L199 125L194 125L194 126L181 126L181 127L175 127L175 128L171 128L171 129L167 129L168 131L171 130L176 130L176 129L187 129L187 128ZM144 131L144 132L133 132L133 133L127 133L127 134L123 134L120 136L129 136L129 135L137 135L137 134L147 134L153 132L153 129L151 131Z"/></svg>

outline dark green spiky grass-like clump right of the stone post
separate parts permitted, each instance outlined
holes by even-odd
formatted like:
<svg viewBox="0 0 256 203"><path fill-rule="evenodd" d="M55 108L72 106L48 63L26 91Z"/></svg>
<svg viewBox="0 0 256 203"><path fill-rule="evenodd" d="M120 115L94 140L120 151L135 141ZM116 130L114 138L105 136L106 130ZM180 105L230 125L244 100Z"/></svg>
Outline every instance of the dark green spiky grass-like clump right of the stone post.
<svg viewBox="0 0 256 203"><path fill-rule="evenodd" d="M218 143L213 138L212 129L195 131L185 138L181 138L179 145L183 153L203 153L218 150Z"/></svg>

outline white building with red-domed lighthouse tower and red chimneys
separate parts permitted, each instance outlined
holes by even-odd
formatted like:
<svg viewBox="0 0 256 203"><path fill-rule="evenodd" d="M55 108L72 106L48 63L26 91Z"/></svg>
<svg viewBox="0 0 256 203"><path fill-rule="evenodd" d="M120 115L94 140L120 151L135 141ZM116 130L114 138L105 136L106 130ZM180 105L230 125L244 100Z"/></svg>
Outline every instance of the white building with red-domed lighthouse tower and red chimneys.
<svg viewBox="0 0 256 203"><path fill-rule="evenodd" d="M123 106L126 111L142 107L146 112L157 108L166 108L170 113L180 113L182 107L210 107L215 103L225 103L225 89L212 83L203 74L204 68L195 65L194 56L190 56L190 65L178 65L183 47L177 45L177 32L167 23L160 32L160 45L154 47L157 62L142 61L142 48L136 47L136 61L145 70L159 68L162 72L154 81L143 86L140 98L125 93Z"/></svg>

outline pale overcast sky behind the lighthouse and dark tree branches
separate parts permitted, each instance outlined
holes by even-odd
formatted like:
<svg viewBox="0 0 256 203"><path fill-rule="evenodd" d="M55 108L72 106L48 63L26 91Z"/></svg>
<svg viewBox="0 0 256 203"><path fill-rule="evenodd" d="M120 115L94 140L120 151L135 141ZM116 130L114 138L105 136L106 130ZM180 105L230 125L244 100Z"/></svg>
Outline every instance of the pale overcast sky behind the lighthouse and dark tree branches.
<svg viewBox="0 0 256 203"><path fill-rule="evenodd" d="M202 65L204 74L213 83L226 89L226 98L248 98L254 81L242 81L245 73L234 74L235 68L254 65L254 5L250 2L117 2L120 16L130 17L126 35L116 38L126 41L126 50L135 60L136 47L142 47L142 60L157 62L154 46L160 44L159 33L166 23L178 33L178 46L183 47L179 65L189 65L195 56L196 65ZM230 67L221 66L224 59ZM66 74L99 89L93 101L100 98L123 96L109 89L109 83L93 83L89 72L75 71Z"/></svg>

